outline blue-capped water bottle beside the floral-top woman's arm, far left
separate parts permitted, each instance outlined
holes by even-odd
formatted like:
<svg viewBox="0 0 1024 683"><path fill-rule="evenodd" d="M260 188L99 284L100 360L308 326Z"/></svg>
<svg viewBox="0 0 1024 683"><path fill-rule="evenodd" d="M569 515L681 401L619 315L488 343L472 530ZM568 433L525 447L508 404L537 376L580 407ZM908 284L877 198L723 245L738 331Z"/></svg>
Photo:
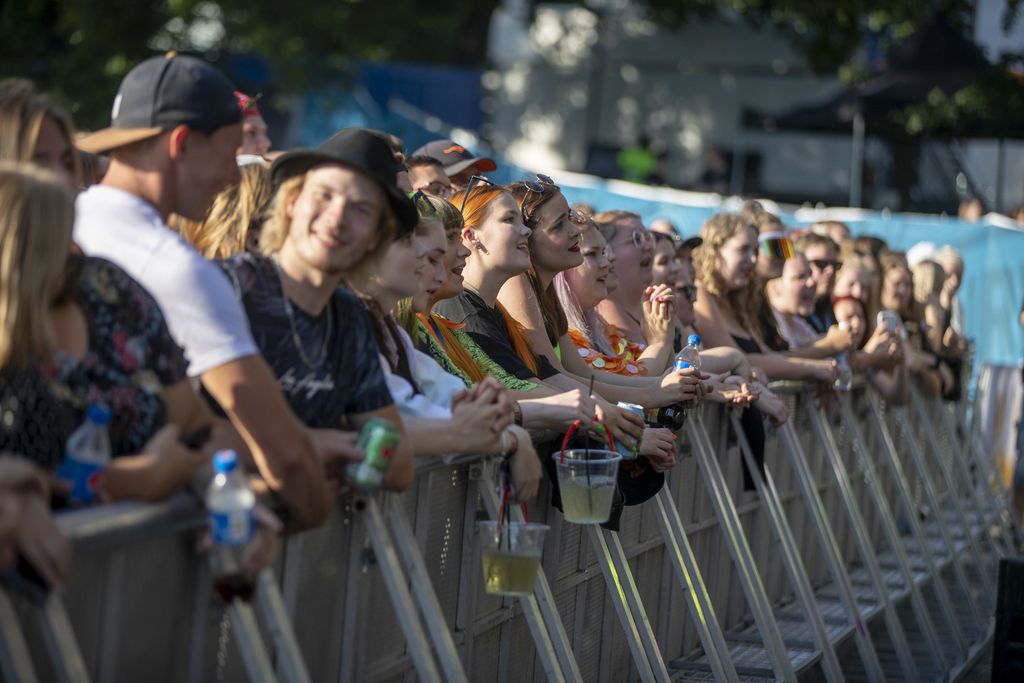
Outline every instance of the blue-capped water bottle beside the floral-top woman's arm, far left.
<svg viewBox="0 0 1024 683"><path fill-rule="evenodd" d="M110 424L110 409L93 403L85 422L68 437L63 460L57 466L57 479L71 487L72 503L85 505L96 500L99 478L111 462Z"/></svg>

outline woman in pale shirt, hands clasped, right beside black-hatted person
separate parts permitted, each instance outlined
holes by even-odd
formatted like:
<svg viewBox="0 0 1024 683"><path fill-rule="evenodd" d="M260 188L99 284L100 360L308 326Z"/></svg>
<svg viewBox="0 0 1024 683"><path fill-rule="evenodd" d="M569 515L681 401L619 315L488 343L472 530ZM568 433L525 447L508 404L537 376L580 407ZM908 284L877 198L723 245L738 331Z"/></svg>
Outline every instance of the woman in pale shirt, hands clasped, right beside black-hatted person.
<svg viewBox="0 0 1024 683"><path fill-rule="evenodd" d="M467 389L458 377L416 350L392 313L400 300L410 297L422 305L447 279L444 227L435 208L442 201L414 195L420 220L413 232L393 241L375 269L356 272L348 284L374 321L381 366L414 455L508 456L517 497L529 500L537 495L541 464L529 435L512 424L505 388L484 379Z"/></svg>

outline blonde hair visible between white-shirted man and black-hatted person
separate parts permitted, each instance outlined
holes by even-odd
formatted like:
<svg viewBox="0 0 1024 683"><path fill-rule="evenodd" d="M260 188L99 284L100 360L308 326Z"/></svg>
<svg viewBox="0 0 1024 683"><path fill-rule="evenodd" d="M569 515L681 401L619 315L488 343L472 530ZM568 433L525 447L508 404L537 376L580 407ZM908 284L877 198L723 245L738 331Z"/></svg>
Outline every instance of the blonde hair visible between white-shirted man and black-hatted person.
<svg viewBox="0 0 1024 683"><path fill-rule="evenodd" d="M270 173L262 164L239 169L242 179L217 195L206 220L178 222L181 237L206 258L228 258L247 251L260 228L261 215L270 201Z"/></svg>

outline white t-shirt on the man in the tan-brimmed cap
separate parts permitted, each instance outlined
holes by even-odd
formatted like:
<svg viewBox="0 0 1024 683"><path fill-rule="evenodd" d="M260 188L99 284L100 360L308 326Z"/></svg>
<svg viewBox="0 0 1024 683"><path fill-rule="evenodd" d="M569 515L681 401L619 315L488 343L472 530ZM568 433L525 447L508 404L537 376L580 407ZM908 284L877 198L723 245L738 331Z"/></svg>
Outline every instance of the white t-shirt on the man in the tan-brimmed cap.
<svg viewBox="0 0 1024 683"><path fill-rule="evenodd" d="M75 242L117 263L160 304L193 377L259 353L224 273L164 223L147 202L93 185L75 204Z"/></svg>

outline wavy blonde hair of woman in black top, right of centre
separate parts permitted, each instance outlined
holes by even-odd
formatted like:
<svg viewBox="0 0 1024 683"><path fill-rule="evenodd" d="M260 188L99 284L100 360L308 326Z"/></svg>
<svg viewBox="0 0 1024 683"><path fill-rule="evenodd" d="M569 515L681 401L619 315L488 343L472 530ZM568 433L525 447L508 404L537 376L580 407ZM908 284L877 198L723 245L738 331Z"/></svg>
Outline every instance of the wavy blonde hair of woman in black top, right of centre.
<svg viewBox="0 0 1024 683"><path fill-rule="evenodd" d="M751 230L757 234L758 228L734 213L717 213L700 227L700 239L703 243L694 252L694 265L697 279L712 296L724 301L735 313L739 325L751 334L760 337L758 326L754 324L757 312L758 285L753 280L750 286L737 290L729 290L718 271L718 255L722 245L739 234Z"/></svg>

